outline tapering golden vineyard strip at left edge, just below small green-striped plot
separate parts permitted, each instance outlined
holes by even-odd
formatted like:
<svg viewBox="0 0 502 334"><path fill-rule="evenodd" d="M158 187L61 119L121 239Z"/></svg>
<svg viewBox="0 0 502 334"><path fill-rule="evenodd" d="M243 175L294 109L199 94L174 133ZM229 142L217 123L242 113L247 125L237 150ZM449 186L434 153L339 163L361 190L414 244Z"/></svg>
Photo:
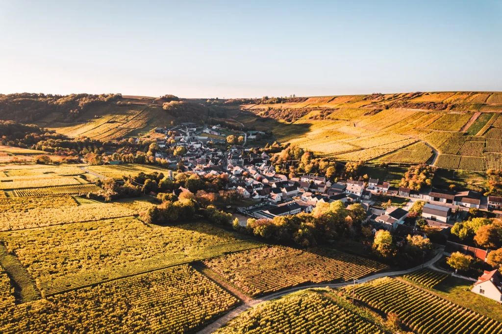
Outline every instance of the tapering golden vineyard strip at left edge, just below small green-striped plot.
<svg viewBox="0 0 502 334"><path fill-rule="evenodd" d="M31 199L31 198L30 198ZM42 199L43 201L43 199ZM47 203L49 204L49 203ZM115 204L90 204L66 207L35 207L16 212L0 211L0 231L70 224L136 215L137 212Z"/></svg>

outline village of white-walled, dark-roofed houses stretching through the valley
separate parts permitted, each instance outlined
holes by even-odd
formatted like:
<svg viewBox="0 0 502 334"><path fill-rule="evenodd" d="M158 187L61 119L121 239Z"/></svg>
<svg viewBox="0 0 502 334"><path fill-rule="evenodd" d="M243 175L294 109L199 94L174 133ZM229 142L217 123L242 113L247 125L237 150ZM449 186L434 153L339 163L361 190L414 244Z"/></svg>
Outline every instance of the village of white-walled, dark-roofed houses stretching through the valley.
<svg viewBox="0 0 502 334"><path fill-rule="evenodd" d="M450 230L455 223L464 221L470 212L488 211L494 216L502 208L501 197L486 197L470 190L431 187L414 191L404 187L394 188L385 180L371 177L367 181L337 180L336 183L322 175L289 178L277 173L268 153L258 153L260 147L253 147L257 136L265 133L244 132L239 145L230 144L225 137L228 132L223 131L220 125L200 126L188 122L169 129L158 127L155 132L165 134L165 137L157 139L161 150L155 156L166 159L170 168L191 171L199 176L226 174L228 190L235 190L248 204L236 208L235 215L241 226L245 226L249 218L272 220L278 216L311 213L319 203L340 201L347 208L353 204L360 204L364 208L367 218L363 224L371 228L373 235L386 230L398 240L401 238L402 242L406 242L408 235L427 238L423 229L417 226L418 218L422 218L429 227L441 231L447 239L444 245L446 256L459 251L486 261L491 251L451 238ZM212 144L217 144L219 148ZM184 153L163 153L162 149L169 146L184 147ZM180 189L175 193L179 195L185 191L188 190ZM401 205L393 205L396 200ZM421 217L410 215L410 209L416 202L422 203ZM486 272L479 282L486 281L487 275L498 274L496 271ZM477 287L473 288L473 292L479 291ZM492 299L502 300L500 289L497 291L500 295L495 293Z"/></svg>

